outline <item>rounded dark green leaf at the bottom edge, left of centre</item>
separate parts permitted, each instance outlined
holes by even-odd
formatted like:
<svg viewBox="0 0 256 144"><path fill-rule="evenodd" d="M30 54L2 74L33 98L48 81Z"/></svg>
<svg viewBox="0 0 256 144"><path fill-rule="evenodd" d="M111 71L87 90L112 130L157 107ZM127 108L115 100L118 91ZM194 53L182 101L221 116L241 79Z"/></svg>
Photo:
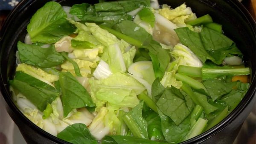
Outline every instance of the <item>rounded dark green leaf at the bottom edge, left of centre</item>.
<svg viewBox="0 0 256 144"><path fill-rule="evenodd" d="M72 124L58 133L57 137L72 144L98 144L85 124Z"/></svg>

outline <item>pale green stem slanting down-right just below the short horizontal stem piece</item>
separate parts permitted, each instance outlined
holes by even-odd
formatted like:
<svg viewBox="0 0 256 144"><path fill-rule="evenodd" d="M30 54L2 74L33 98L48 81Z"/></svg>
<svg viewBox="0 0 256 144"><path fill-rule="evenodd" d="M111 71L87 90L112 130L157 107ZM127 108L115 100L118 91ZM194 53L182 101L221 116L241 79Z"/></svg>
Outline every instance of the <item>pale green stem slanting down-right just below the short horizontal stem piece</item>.
<svg viewBox="0 0 256 144"><path fill-rule="evenodd" d="M189 76L186 75L182 75L180 73L177 73L175 75L175 78L177 78L178 80L185 82L186 84L189 84L189 86L191 86L194 89L204 89L204 94L205 95L209 95L207 89L205 88L204 84L200 83L199 81L196 81L193 78L190 78Z"/></svg>

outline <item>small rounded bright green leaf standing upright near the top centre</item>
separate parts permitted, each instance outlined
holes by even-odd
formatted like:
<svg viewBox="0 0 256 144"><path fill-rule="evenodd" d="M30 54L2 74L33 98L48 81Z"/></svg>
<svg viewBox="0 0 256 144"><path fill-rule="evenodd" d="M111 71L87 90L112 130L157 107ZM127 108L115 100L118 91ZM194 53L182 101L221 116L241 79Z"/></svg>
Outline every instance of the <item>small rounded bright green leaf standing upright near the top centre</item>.
<svg viewBox="0 0 256 144"><path fill-rule="evenodd" d="M140 10L140 12L138 12L138 15L140 16L141 20L149 23L151 25L151 27L154 27L155 17L154 17L153 12L151 12L150 9L144 8L144 9Z"/></svg>

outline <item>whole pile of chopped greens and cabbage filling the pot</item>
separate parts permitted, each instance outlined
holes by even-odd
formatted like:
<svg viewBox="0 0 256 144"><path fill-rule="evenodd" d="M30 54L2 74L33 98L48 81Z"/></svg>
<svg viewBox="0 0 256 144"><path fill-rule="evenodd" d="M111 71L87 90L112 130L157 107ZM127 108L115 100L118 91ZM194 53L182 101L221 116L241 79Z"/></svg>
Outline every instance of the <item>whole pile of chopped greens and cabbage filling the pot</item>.
<svg viewBox="0 0 256 144"><path fill-rule="evenodd" d="M221 122L250 84L243 54L185 3L48 2L17 43L13 99L73 144L189 140Z"/></svg>

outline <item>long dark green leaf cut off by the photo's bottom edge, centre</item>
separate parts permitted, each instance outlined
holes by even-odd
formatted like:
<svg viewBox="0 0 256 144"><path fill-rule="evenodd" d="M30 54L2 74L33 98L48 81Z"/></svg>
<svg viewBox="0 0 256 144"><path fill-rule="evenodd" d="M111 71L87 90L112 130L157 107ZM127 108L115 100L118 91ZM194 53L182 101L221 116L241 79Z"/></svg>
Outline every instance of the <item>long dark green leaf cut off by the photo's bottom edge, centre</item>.
<svg viewBox="0 0 256 144"><path fill-rule="evenodd" d="M125 135L107 135L102 139L101 144L167 144L160 141L151 141L144 138Z"/></svg>

